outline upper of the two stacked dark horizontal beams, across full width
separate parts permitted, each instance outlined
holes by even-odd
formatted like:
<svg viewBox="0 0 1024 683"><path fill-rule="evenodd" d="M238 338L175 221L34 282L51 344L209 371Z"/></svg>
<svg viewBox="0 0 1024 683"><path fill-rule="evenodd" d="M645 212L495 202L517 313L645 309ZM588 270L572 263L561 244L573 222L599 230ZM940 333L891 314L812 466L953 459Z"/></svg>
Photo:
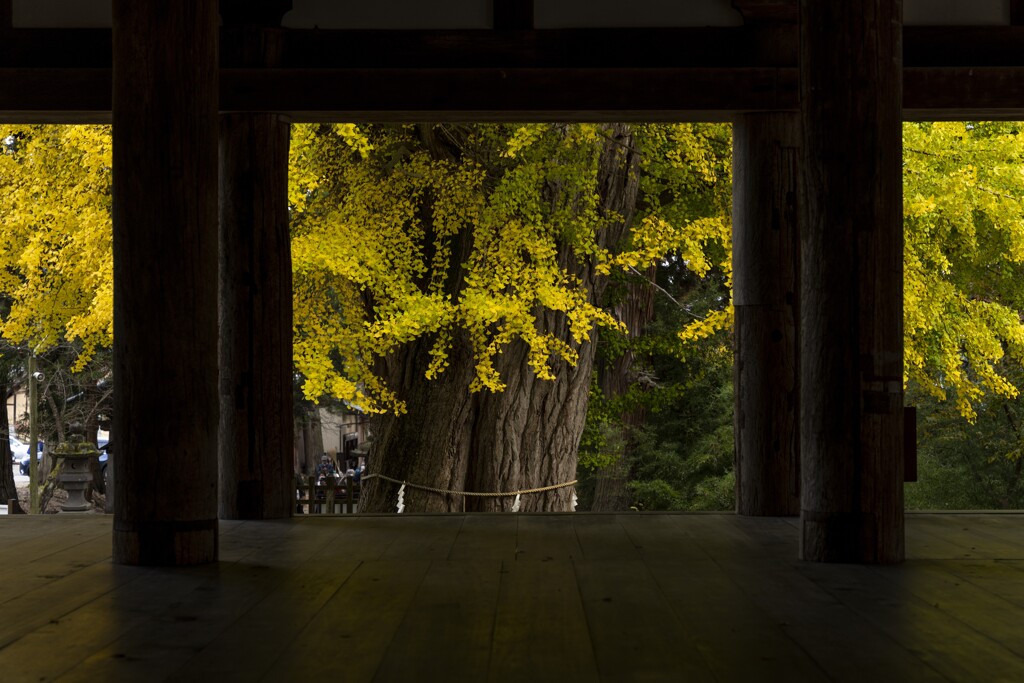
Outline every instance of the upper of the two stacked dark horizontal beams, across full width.
<svg viewBox="0 0 1024 683"><path fill-rule="evenodd" d="M540 31L317 31L275 34L288 69L643 69L796 67L792 26ZM246 29L221 31L221 66L244 66ZM906 67L1024 67L1024 26L905 27ZM105 29L16 29L0 42L0 68L109 69Z"/></svg>

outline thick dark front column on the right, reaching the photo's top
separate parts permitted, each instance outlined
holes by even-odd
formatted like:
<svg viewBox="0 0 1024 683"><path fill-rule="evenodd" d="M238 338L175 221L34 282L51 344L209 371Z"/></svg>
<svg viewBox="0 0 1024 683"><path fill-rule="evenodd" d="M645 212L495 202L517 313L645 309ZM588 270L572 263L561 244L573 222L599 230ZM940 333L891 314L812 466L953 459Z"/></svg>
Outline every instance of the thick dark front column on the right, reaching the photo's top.
<svg viewBox="0 0 1024 683"><path fill-rule="evenodd" d="M801 0L801 555L903 559L899 0Z"/></svg>

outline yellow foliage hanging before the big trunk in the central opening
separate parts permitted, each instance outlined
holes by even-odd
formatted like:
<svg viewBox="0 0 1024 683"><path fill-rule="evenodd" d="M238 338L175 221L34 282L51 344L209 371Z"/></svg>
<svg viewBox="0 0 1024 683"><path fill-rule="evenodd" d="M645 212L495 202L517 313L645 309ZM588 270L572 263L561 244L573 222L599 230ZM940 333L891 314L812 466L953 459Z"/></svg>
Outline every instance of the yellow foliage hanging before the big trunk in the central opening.
<svg viewBox="0 0 1024 683"><path fill-rule="evenodd" d="M350 132L361 146L323 126L293 134L296 367L311 399L331 393L365 410L401 411L375 365L425 338L425 374L434 378L457 335L472 348L473 390L504 389L495 358L517 340L537 377L551 379L556 364L577 361L595 327L621 328L581 281L582 267L606 275L674 253L699 273L728 270L720 206L685 206L694 185L728 180L727 153L709 151L721 129L638 127L621 139L597 124ZM603 155L625 158L630 145L644 182L654 183L648 197L679 201L647 202L632 238L620 241L608 236L624 218L602 205L598 174ZM540 323L552 313L567 338ZM710 325L721 329L728 315Z"/></svg>

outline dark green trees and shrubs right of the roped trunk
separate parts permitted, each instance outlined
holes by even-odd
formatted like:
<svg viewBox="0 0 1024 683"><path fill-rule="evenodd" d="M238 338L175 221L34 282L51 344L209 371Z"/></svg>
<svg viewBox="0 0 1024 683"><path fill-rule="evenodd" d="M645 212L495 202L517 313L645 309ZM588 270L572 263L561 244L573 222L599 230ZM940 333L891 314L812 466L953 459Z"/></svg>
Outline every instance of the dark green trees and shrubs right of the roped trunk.
<svg viewBox="0 0 1024 683"><path fill-rule="evenodd" d="M584 490L609 461L608 445L627 439L621 462L628 503L620 509L734 508L732 345L728 330L683 340L680 330L727 310L726 278L703 278L667 261L657 272L654 317L632 351L645 380L620 397L592 401L581 450ZM612 351L614 352L614 351ZM620 424L622 404L643 408L641 427ZM598 430L595 435L595 429ZM624 434L628 435L625 436ZM610 435L610 437L609 437ZM613 453L617 453L613 451ZM590 497L583 497L590 503Z"/></svg>

